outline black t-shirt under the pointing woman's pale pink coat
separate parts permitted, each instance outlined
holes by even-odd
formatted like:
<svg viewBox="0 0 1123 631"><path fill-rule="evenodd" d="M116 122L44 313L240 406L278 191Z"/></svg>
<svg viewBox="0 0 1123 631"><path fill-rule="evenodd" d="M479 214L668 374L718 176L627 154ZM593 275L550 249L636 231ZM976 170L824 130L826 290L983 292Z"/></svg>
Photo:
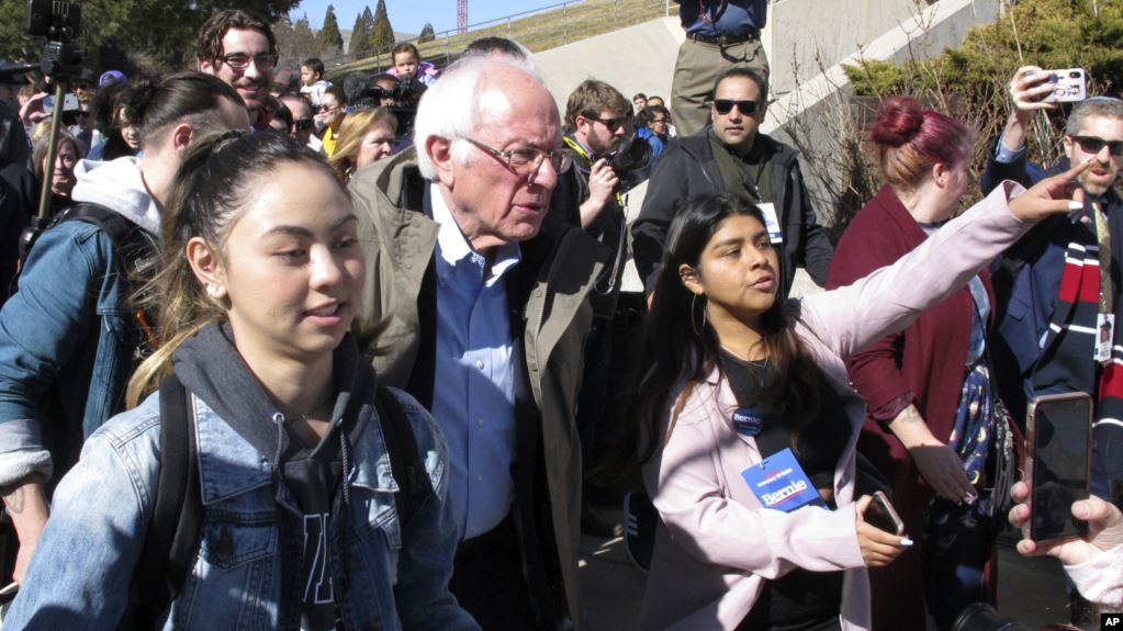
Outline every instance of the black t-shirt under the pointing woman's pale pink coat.
<svg viewBox="0 0 1123 631"><path fill-rule="evenodd" d="M721 354L721 371L737 396L737 404L758 408L764 419L760 433L754 438L763 458L793 447L791 419L776 418L757 405L759 392L772 376L772 369L767 362L745 362L725 351ZM820 375L819 413L800 431L792 449L815 488L833 490L834 468L849 437L850 421L842 409L842 400ZM833 509L833 493L830 496L829 504ZM836 629L841 606L841 571L818 573L795 568L775 580L765 580L760 597L738 629Z"/></svg>

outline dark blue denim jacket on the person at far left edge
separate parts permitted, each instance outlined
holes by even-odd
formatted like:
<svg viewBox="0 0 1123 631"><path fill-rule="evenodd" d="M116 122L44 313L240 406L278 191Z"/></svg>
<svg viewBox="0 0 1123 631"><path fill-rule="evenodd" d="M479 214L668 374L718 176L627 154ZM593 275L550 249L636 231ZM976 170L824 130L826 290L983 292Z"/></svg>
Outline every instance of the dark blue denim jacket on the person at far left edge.
<svg viewBox="0 0 1123 631"><path fill-rule="evenodd" d="M0 310L0 485L49 477L52 456L64 472L120 410L133 357L115 258L101 228L63 221L39 237ZM44 405L53 390L58 410Z"/></svg>

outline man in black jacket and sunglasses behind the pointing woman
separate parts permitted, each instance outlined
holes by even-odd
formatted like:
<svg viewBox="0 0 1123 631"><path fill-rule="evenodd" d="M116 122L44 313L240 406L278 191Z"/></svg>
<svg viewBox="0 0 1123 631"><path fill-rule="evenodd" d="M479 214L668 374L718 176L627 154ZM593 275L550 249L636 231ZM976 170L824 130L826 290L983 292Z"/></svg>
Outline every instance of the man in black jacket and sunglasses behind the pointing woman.
<svg viewBox="0 0 1123 631"><path fill-rule="evenodd" d="M807 200L798 153L758 131L767 109L765 80L751 70L732 68L718 77L713 94L711 125L663 153L632 226L636 267L645 289L655 290L677 204L722 192L739 194L764 212L780 250L784 294L801 265L822 286L834 248Z"/></svg>

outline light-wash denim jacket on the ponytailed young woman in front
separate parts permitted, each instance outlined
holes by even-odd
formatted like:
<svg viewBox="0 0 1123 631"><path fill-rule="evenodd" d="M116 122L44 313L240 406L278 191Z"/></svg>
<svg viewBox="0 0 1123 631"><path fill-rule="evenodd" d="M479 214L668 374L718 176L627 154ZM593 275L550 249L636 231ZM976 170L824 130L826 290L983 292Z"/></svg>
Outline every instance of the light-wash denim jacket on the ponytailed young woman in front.
<svg viewBox="0 0 1123 631"><path fill-rule="evenodd" d="M402 532L398 485L381 427L353 446L349 509L336 494L334 583L347 629L478 629L448 592L456 529L448 455L432 418L408 394L405 409L433 493ZM55 511L4 624L10 629L115 629L152 519L159 475L158 393L116 417L85 443L55 493ZM296 511L266 458L191 395L204 506L198 557L164 629L276 629L282 559L277 505ZM263 419L263 422L268 422ZM299 514L299 511L296 511ZM346 570L343 569L346 564ZM345 578L346 575L346 578ZM294 606L292 603L286 603Z"/></svg>

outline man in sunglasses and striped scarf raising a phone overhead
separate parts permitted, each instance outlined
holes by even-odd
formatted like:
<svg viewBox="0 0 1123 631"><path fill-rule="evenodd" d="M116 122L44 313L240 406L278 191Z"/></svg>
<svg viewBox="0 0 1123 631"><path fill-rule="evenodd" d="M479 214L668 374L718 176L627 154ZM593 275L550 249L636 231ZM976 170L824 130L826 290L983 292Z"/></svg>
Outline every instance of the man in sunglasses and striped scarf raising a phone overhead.
<svg viewBox="0 0 1123 631"><path fill-rule="evenodd" d="M1031 186L1090 161L1078 183L1085 208L1033 228L995 264L996 331L992 355L1003 399L1023 419L1033 396L1084 392L1096 402L1092 492L1110 496L1108 479L1123 479L1123 200L1115 186L1123 165L1123 102L1096 97L1077 103L1065 126L1062 157L1046 170L1026 159L1030 124L1054 75L1037 66L1017 70L1008 85L1010 118L994 144L983 176L989 192L1003 180ZM1074 620L1078 615L1074 607Z"/></svg>

